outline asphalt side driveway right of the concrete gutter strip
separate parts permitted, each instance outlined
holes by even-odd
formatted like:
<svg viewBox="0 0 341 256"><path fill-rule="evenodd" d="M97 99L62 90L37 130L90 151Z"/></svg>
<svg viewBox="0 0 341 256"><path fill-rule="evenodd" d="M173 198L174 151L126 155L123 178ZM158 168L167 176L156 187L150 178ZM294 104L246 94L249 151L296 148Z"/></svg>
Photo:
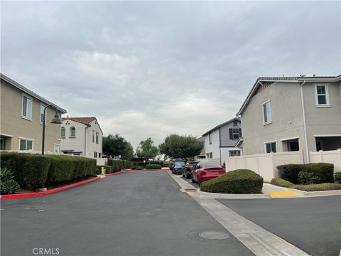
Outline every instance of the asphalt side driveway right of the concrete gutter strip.
<svg viewBox="0 0 341 256"><path fill-rule="evenodd" d="M341 196L218 201L311 255L340 254Z"/></svg>

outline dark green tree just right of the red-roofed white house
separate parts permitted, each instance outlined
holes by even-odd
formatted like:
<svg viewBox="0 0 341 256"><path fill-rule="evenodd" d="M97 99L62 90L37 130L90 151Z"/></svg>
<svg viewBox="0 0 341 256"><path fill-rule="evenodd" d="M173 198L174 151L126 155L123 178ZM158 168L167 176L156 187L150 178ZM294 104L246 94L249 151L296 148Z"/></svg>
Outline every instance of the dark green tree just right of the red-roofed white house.
<svg viewBox="0 0 341 256"><path fill-rule="evenodd" d="M121 155L121 159L130 160L133 158L134 149L130 142L119 134L109 134L103 137L103 154L112 157Z"/></svg>

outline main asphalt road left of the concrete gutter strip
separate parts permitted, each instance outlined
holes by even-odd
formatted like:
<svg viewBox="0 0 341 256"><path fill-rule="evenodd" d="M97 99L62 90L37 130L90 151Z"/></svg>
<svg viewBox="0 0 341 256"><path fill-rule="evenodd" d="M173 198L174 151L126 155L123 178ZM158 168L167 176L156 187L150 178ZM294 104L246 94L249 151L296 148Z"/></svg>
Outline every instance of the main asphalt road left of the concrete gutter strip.
<svg viewBox="0 0 341 256"><path fill-rule="evenodd" d="M232 235L200 238L228 232L163 171L126 171L48 196L2 200L1 209L2 256L253 255Z"/></svg>

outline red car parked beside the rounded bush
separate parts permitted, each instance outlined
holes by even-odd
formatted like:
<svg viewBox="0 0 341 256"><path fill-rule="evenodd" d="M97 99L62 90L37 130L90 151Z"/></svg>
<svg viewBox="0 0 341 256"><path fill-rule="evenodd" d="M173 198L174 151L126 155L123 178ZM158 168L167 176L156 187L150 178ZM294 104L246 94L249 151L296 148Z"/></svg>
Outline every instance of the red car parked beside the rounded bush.
<svg viewBox="0 0 341 256"><path fill-rule="evenodd" d="M192 182L200 184L225 174L225 170L216 162L199 162L192 171Z"/></svg>

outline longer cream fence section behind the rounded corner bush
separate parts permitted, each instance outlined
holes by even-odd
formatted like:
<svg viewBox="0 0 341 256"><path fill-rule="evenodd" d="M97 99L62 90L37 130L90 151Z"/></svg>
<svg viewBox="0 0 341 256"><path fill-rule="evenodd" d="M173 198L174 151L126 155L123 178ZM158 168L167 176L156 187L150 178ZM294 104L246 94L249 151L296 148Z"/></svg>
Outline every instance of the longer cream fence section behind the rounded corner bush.
<svg viewBox="0 0 341 256"><path fill-rule="evenodd" d="M303 151L232 156L225 160L225 169L250 169L269 182L272 178L278 178L276 166L282 164L303 164Z"/></svg>

